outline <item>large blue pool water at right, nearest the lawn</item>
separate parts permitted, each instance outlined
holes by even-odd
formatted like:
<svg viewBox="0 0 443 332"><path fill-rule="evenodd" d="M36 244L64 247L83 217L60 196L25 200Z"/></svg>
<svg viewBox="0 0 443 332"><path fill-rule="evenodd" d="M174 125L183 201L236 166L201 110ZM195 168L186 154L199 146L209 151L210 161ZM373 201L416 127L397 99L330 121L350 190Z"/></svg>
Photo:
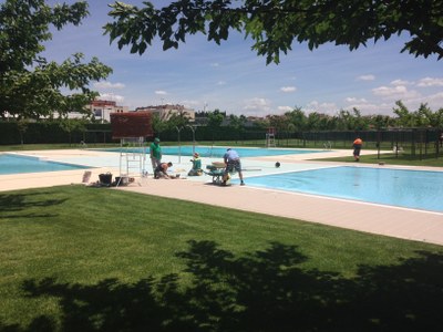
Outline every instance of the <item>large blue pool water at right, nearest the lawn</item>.
<svg viewBox="0 0 443 332"><path fill-rule="evenodd" d="M246 184L443 212L442 172L342 166L250 177Z"/></svg>

